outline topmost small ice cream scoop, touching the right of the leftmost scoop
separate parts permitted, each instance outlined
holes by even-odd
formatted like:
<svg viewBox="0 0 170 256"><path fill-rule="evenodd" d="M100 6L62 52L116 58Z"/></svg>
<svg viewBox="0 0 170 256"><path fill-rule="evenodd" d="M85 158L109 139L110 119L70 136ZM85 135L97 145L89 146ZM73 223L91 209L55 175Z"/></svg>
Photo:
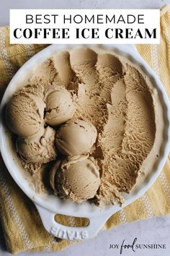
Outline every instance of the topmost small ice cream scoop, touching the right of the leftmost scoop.
<svg viewBox="0 0 170 256"><path fill-rule="evenodd" d="M71 93L61 85L50 85L46 93L45 122L52 126L63 124L73 116L76 108Z"/></svg>

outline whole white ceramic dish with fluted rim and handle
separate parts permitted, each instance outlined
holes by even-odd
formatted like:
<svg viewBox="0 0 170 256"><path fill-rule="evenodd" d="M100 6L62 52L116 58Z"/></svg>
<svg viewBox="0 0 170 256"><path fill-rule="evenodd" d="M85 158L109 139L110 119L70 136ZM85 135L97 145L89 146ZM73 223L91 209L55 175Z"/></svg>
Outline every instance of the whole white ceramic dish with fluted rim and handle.
<svg viewBox="0 0 170 256"><path fill-rule="evenodd" d="M82 46L73 46L73 47L82 47ZM118 210L121 210L126 205L129 205L131 202L135 201L138 197L143 195L146 190L151 187L151 184L156 180L158 175L161 173L161 169L166 162L167 155L169 153L169 138L170 138L170 130L169 130L169 120L170 120L170 107L169 107L169 99L167 98L166 92L164 90L163 85L161 85L160 80L153 72L153 70L146 64L138 52L135 50L134 46L130 45L105 45L104 48L108 48L109 50L114 50L115 52L121 54L122 56L126 56L130 61L133 61L135 64L143 70L147 77L150 77L153 82L156 91L158 92L158 98L161 103L161 108L164 113L164 139L161 142L161 146L159 148L159 158L157 161L151 164L148 173L145 178L142 179L135 186L130 195L126 196L125 203L120 205L111 205L104 209L100 209L95 205L89 204L89 202L84 202L81 204L77 204L71 201L62 201L56 196L51 195L40 195L35 192L35 189L30 185L29 179L25 179L25 174L22 171L22 166L19 165L17 161L17 155L14 150L14 145L12 145L11 135L3 121L3 109L9 98L13 93L23 86L23 81L27 80L30 76L30 73L45 59L48 59L49 56L55 53L55 51L60 51L68 48L68 45L52 45L48 46L44 50L40 51L40 53L33 56L29 61L27 61L14 75L11 82L9 82L8 87L6 88L6 92L4 93L4 97L1 101L1 123L0 123L0 148L1 155L4 159L4 163L9 170L9 173L12 175L12 178L17 182L18 186L23 190L23 192L30 197L30 199L35 203L37 210L40 213L40 217L42 219L42 223L45 229L53 234L54 236L63 238L63 239L87 239L92 236L95 236L98 231L102 228L105 221L112 216L113 213L116 213ZM76 216L76 217L85 217L89 218L89 226L86 227L68 227L63 226L57 223L54 220L54 216L56 213L60 213L68 216Z"/></svg>

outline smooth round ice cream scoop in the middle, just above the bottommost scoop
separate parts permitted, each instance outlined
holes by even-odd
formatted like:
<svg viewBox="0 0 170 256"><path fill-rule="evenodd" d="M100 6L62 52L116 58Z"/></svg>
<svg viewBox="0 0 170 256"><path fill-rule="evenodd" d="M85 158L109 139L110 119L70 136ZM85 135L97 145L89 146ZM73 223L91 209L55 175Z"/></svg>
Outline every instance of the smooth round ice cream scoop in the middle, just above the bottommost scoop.
<svg viewBox="0 0 170 256"><path fill-rule="evenodd" d="M97 140L97 129L89 121L71 119L56 134L56 147L63 155L81 155Z"/></svg>

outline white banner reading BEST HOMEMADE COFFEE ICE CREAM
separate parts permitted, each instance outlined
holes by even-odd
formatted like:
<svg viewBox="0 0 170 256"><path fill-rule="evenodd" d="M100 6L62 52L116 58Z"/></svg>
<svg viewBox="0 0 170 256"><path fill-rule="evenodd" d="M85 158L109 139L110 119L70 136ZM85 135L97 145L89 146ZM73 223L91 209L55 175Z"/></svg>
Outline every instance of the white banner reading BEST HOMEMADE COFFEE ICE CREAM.
<svg viewBox="0 0 170 256"><path fill-rule="evenodd" d="M159 43L159 9L11 9L10 43Z"/></svg>

